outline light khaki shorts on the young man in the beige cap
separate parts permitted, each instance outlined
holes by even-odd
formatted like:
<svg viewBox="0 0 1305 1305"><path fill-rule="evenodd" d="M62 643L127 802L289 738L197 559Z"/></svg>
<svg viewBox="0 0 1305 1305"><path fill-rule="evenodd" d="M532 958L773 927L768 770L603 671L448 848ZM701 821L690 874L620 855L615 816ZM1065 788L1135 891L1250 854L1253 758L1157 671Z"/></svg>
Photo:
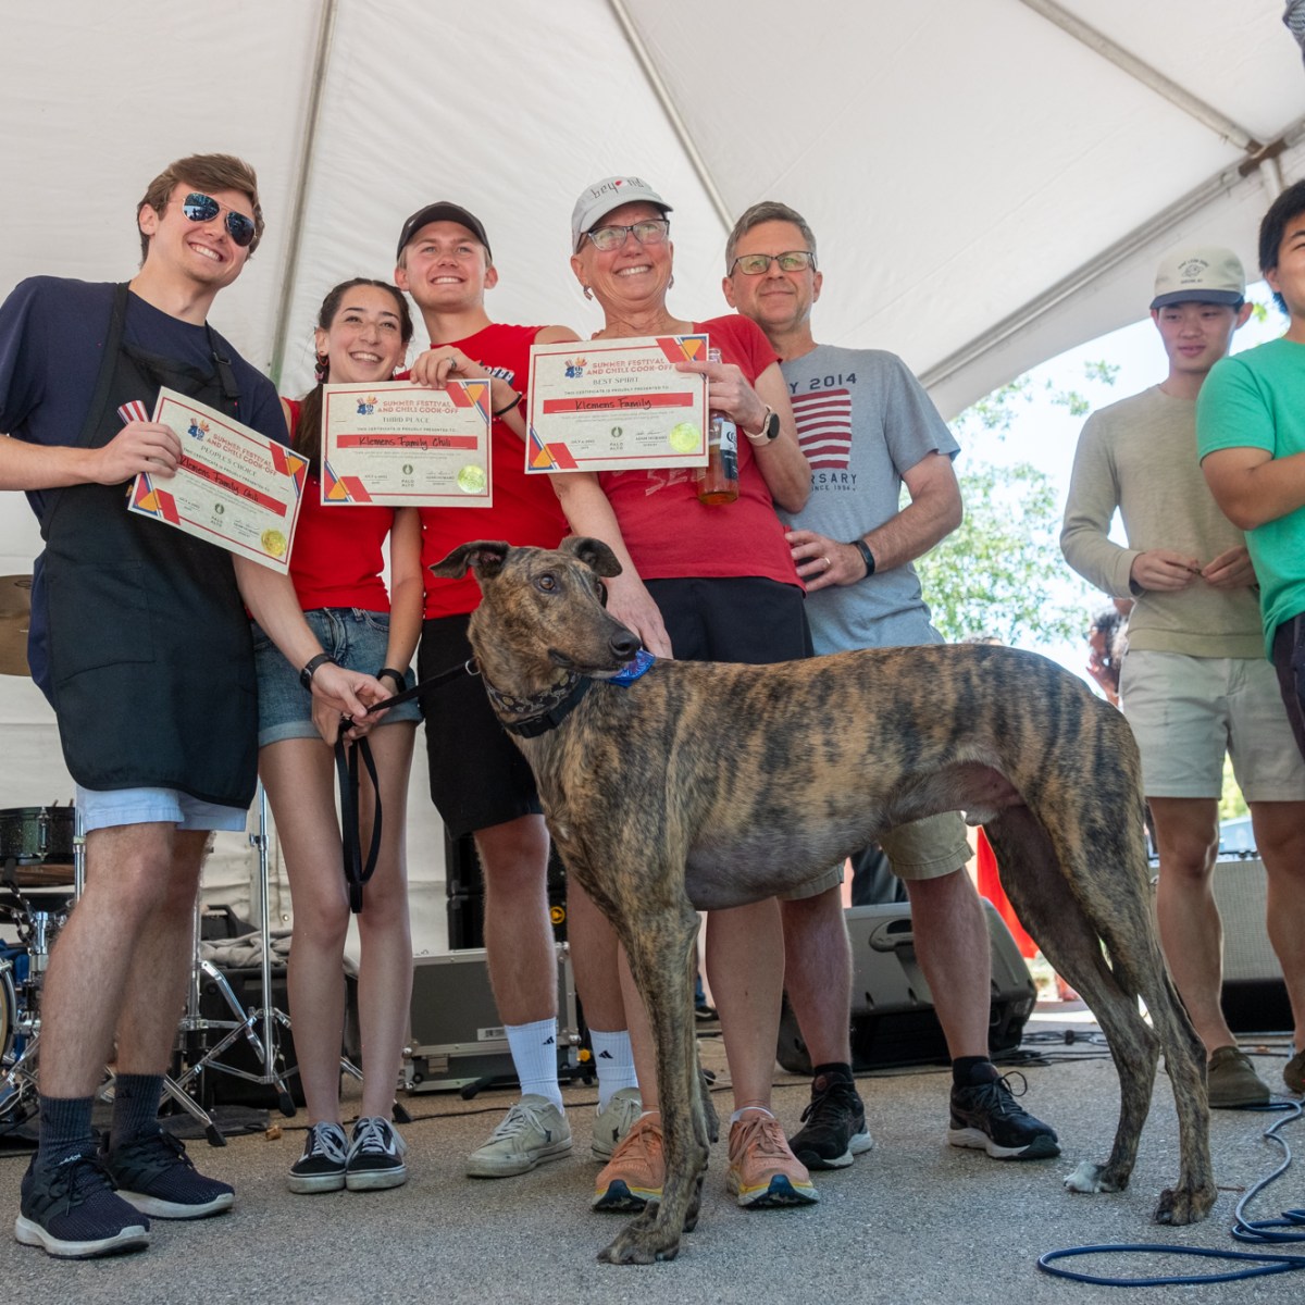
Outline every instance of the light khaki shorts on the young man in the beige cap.
<svg viewBox="0 0 1305 1305"><path fill-rule="evenodd" d="M1268 662L1130 650L1120 706L1147 797L1218 799L1227 752L1246 801L1305 801L1305 763Z"/></svg>

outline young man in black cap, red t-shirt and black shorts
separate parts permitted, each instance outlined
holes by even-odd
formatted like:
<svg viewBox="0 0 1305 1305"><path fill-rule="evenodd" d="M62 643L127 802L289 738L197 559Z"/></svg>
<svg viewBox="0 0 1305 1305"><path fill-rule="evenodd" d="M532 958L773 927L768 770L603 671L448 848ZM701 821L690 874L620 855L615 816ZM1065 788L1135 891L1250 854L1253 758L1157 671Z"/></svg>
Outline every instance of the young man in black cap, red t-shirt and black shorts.
<svg viewBox="0 0 1305 1305"><path fill-rule="evenodd" d="M565 326L493 322L485 291L499 282L480 219L448 201L414 213L399 234L394 282L422 312L431 347L414 380L433 380L441 360L465 356L525 395L530 346L578 337ZM556 548L566 518L547 476L527 478L525 445L495 414L491 432L493 506L422 512L425 620L418 676L428 679L471 656L467 622L480 602L472 577L436 579L427 568L468 539ZM452 838L471 834L484 876L484 942L499 1017L522 1096L467 1161L478 1178L505 1178L570 1154L570 1124L557 1081L557 962L548 910L548 830L525 758L489 709L479 679L462 676L423 699L431 799ZM599 1108L592 1155L606 1161L638 1118L616 942L607 920L568 885L568 938L576 985L594 1043Z"/></svg>

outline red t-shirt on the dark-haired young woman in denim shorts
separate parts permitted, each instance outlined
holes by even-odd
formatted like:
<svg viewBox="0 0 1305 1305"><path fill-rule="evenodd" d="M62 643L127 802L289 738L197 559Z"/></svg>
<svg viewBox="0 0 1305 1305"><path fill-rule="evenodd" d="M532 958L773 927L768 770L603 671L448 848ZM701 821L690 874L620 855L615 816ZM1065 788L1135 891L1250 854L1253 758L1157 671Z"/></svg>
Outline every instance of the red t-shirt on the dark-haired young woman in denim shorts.
<svg viewBox="0 0 1305 1305"><path fill-rule="evenodd" d="M299 402L286 399L286 403L294 428L299 422ZM382 545L393 525L393 508L324 508L321 480L308 476L290 553L290 578L299 606L305 612L316 607L388 612L390 595L381 579Z"/></svg>

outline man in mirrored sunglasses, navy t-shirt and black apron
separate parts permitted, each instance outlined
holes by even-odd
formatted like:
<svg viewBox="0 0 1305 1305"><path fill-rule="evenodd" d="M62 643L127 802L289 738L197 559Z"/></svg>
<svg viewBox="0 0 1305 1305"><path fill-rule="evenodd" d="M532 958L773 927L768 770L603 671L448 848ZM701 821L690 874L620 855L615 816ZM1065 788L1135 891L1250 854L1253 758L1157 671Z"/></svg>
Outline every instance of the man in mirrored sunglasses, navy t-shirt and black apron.
<svg viewBox="0 0 1305 1305"><path fill-rule="evenodd" d="M51 701L86 831L86 886L60 932L40 1009L40 1137L18 1241L60 1258L137 1249L149 1216L197 1219L232 1190L158 1126L192 962L209 833L243 830L256 783L248 606L342 711L386 696L321 652L286 577L129 514L142 471L181 444L147 419L159 386L284 440L275 390L206 322L262 235L253 171L180 159L137 206L129 283L37 277L0 305L0 488L22 489L44 552L27 658ZM98 1144L94 1095L112 1061Z"/></svg>

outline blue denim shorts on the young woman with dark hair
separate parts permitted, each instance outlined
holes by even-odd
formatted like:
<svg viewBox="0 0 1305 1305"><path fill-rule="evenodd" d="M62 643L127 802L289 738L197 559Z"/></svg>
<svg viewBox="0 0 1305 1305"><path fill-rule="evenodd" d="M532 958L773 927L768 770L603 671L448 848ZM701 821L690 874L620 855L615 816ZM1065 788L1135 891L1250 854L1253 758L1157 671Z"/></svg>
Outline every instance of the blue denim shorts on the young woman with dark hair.
<svg viewBox="0 0 1305 1305"><path fill-rule="evenodd" d="M317 636L322 650L346 671L376 675L385 666L390 641L390 613L364 612L358 607L317 607L304 612L308 628ZM313 724L313 696L299 683L299 667L291 666L257 621L249 622L253 634L253 660L258 671L258 746L284 739L320 739ZM398 669L398 667L395 667ZM381 681L393 689L389 679ZM407 686L416 679L407 672ZM416 702L402 702L381 716L380 724L420 720Z"/></svg>

